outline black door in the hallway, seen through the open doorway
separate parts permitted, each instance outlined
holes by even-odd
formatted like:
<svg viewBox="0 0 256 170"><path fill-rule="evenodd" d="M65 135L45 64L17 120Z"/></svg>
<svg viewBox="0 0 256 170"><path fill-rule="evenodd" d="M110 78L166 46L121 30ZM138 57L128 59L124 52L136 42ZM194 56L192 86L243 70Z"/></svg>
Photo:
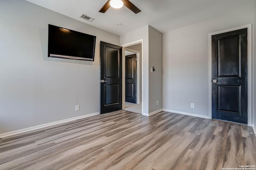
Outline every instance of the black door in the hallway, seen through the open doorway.
<svg viewBox="0 0 256 170"><path fill-rule="evenodd" d="M136 54L125 56L125 101L136 103L137 92Z"/></svg>

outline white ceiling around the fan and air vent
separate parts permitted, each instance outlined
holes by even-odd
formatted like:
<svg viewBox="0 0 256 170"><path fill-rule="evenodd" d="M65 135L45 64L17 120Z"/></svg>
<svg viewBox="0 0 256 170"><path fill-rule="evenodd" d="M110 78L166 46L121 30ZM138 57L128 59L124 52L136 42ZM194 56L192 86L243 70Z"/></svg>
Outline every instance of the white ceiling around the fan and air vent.
<svg viewBox="0 0 256 170"><path fill-rule="evenodd" d="M134 14L125 6L98 12L107 0L27 0L76 20L122 35L151 25L165 33L174 29L253 8L255 0L130 0L142 12ZM78 18L86 14L94 21ZM121 26L117 23L122 23Z"/></svg>

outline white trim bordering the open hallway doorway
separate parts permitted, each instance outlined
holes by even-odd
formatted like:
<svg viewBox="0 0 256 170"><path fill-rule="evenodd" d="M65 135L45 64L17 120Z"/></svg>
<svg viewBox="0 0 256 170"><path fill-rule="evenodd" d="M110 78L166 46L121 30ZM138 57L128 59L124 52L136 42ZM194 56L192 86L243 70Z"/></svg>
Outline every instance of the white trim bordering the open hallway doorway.
<svg viewBox="0 0 256 170"><path fill-rule="evenodd" d="M142 90L142 92L141 92L141 94L142 94L142 114L143 114L144 113L144 43L143 43L143 39L139 39L137 41L133 41L131 43L124 44L124 45L122 45L122 47L125 48L125 47L131 46L131 45L136 45L136 44L139 44L139 43L142 44L142 51L141 51L141 62L142 62L142 68L141 68L142 69L142 89L141 90ZM123 55L124 55L124 50L123 50ZM122 64L123 64L122 65L123 66L122 72L124 74L124 67L125 67L124 60L122 61ZM125 94L125 92L124 92L124 87L125 87L124 82L125 82L125 78L123 76L123 87L122 87L123 98L124 98L124 94ZM124 109L124 105L125 105L125 103L123 102L123 109Z"/></svg>

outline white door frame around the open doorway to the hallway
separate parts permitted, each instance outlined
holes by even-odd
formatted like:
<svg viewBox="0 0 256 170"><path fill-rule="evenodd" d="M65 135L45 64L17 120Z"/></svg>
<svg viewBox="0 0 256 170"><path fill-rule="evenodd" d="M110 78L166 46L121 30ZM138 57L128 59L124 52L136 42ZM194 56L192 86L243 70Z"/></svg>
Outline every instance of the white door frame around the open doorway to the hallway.
<svg viewBox="0 0 256 170"><path fill-rule="evenodd" d="M131 45L136 45L136 44L142 44L142 51L141 51L141 55L140 55L140 61L142 62L142 89L141 89L141 94L142 94L142 114L144 113L144 49L143 49L143 39L139 39L137 41L133 41L131 43L127 43L122 45L121 47L123 47L123 53L122 53L122 79L123 79L123 87L122 87L122 101L123 101L123 109L125 107L125 47L131 46ZM138 84L138 83L137 83Z"/></svg>

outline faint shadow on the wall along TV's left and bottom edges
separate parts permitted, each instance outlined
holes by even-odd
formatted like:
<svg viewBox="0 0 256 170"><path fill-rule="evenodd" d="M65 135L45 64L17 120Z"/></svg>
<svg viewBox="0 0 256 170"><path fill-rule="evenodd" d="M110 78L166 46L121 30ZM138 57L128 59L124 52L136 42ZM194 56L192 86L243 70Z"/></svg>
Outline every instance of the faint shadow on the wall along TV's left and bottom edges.
<svg viewBox="0 0 256 170"><path fill-rule="evenodd" d="M84 65L93 65L93 62L95 62L96 52L95 52L94 61L81 61L81 60L48 57L48 29L40 27L39 32L40 32L40 40L42 45L42 56L44 61L55 61L55 62L61 62L61 63L74 63L74 64L84 64Z"/></svg>

